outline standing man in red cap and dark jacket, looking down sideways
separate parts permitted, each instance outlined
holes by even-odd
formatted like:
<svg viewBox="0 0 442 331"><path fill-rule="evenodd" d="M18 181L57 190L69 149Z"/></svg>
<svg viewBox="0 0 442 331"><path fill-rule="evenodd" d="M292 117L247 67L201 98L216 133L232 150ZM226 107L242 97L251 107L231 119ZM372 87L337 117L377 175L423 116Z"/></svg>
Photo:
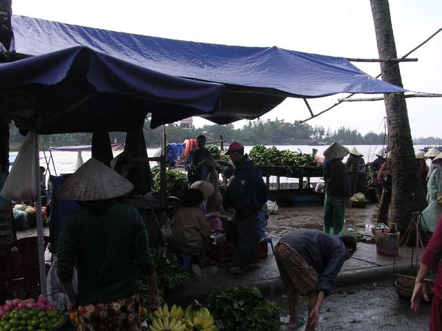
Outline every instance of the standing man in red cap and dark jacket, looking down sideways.
<svg viewBox="0 0 442 331"><path fill-rule="evenodd" d="M226 152L235 165L234 177L227 187L227 204L235 208L237 248L233 260L233 274L244 273L255 250L254 233L258 212L267 201L267 192L262 174L244 154L240 143L231 143Z"/></svg>

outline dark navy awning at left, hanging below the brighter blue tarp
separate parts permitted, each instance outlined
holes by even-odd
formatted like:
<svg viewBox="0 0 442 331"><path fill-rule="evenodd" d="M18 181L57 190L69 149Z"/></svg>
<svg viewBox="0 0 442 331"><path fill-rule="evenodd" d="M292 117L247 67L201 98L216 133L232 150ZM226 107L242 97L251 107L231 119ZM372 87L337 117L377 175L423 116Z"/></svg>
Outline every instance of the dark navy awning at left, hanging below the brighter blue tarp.
<svg viewBox="0 0 442 331"><path fill-rule="evenodd" d="M39 134L138 131L218 109L223 86L155 72L85 47L0 63L0 116Z"/></svg>

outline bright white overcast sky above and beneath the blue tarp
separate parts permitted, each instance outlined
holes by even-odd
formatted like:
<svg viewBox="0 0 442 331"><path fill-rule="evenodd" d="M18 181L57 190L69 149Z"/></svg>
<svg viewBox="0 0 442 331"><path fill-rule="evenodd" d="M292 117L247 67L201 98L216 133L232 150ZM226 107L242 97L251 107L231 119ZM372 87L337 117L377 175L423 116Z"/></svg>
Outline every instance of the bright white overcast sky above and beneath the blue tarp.
<svg viewBox="0 0 442 331"><path fill-rule="evenodd" d="M12 12L93 28L238 46L278 46L339 57L377 58L369 0L321 1L146 1L12 0ZM441 0L390 0L398 57L442 27ZM442 32L401 64L405 88L442 93ZM376 76L378 63L354 63ZM359 94L364 97L363 94ZM314 112L331 106L341 94L312 99ZM368 95L367 95L368 97ZM407 99L413 137L442 137L442 98ZM262 119L294 121L309 117L302 99L287 99ZM381 132L383 101L342 103L309 121L334 130ZM211 123L195 119L201 126ZM241 126L243 121L237 122Z"/></svg>

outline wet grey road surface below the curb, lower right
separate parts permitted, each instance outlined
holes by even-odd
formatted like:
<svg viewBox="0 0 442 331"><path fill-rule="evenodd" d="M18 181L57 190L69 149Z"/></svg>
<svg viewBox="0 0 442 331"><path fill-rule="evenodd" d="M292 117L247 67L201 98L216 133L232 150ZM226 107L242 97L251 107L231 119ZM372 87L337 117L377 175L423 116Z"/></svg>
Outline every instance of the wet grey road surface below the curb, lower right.
<svg viewBox="0 0 442 331"><path fill-rule="evenodd" d="M285 295L273 300L288 314ZM299 316L307 320L307 298L300 301ZM287 323L288 317L282 321ZM430 304L414 312L409 300L398 298L391 283L383 282L336 288L323 303L316 330L418 331L429 325Z"/></svg>

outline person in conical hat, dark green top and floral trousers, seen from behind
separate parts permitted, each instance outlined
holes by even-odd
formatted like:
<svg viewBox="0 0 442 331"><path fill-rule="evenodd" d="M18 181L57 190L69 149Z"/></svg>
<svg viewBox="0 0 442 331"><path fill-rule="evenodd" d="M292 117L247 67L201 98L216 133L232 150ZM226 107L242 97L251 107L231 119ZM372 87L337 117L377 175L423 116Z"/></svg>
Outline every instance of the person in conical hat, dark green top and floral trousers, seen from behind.
<svg viewBox="0 0 442 331"><path fill-rule="evenodd" d="M160 305L148 234L139 212L115 198L133 185L97 159L82 165L57 192L79 201L61 231L57 245L58 277L68 307L78 306L78 330L140 330L140 299L136 272L147 278L149 309ZM73 292L77 258L78 296Z"/></svg>

